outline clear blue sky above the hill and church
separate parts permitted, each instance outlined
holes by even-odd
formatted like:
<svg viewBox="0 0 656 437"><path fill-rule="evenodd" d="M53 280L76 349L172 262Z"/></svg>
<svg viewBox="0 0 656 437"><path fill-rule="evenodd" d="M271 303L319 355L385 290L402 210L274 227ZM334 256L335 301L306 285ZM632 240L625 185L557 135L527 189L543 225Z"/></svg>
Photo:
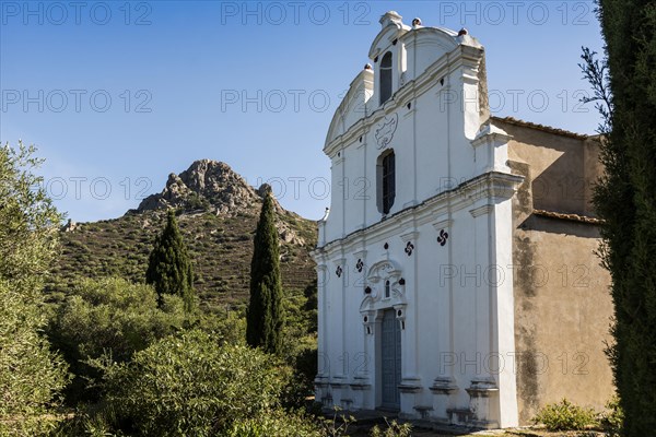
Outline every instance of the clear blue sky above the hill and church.
<svg viewBox="0 0 656 437"><path fill-rule="evenodd" d="M79 222L122 215L200 158L318 220L326 131L388 10L467 27L493 114L595 131L577 67L602 48L591 1L0 1L0 141L38 146Z"/></svg>

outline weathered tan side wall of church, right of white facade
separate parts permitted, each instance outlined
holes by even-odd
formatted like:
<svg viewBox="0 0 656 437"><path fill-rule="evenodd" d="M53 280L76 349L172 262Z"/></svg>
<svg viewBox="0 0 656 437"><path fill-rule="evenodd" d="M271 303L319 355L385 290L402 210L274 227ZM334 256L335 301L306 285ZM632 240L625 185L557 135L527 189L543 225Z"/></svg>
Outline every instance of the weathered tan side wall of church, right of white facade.
<svg viewBox="0 0 656 437"><path fill-rule="evenodd" d="M612 303L610 276L595 255L598 228L534 213L593 215L598 146L535 127L495 125L513 135L509 166L525 177L513 204L519 421L528 423L562 398L601 409L613 392L604 353Z"/></svg>

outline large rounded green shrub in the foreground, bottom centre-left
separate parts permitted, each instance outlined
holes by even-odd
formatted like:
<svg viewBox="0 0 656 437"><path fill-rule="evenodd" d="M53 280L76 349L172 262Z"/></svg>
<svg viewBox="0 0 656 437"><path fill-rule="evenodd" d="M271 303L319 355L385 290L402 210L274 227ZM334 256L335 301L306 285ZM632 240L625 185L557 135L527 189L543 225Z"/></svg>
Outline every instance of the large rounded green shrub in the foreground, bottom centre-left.
<svg viewBox="0 0 656 437"><path fill-rule="evenodd" d="M290 370L245 346L184 332L105 366L106 400L144 436L215 436L278 406Z"/></svg>

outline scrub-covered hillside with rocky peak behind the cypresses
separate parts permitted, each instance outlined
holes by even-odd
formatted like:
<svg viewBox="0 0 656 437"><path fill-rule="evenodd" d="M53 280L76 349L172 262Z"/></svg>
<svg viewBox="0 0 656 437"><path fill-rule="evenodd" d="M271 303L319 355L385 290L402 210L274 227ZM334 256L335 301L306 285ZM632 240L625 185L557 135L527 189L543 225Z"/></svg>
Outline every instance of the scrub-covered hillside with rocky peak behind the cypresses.
<svg viewBox="0 0 656 437"><path fill-rule="evenodd" d="M59 295L79 277L107 275L142 282L166 209L175 208L194 259L194 285L201 305L216 309L244 303L261 208L259 192L226 164L197 161L179 175L171 174L161 193L145 198L121 217L65 226L61 256L48 288ZM300 292L315 279L309 250L316 244L316 226L278 203L276 208L283 286Z"/></svg>

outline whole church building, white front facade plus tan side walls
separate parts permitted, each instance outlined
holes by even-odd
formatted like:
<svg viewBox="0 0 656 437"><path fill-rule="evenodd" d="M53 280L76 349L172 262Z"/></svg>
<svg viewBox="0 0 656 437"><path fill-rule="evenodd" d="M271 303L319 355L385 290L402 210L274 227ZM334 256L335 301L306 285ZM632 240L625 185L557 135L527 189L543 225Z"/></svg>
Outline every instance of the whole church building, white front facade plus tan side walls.
<svg viewBox="0 0 656 437"><path fill-rule="evenodd" d="M396 12L380 24L324 147L317 401L483 428L563 397L602 405L596 143L491 117L484 49L466 31ZM581 196L555 189L570 176Z"/></svg>

